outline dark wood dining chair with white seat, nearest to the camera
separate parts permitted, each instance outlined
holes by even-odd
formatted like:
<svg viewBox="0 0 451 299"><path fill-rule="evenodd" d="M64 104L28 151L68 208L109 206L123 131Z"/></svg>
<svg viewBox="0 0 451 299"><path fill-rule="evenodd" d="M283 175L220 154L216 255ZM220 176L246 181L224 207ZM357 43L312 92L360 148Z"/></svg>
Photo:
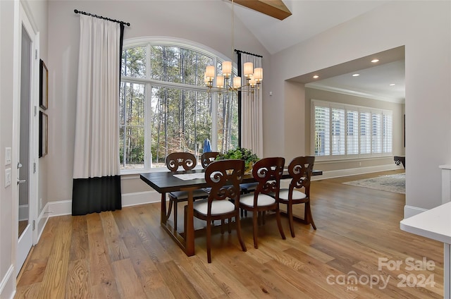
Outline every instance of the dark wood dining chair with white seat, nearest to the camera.
<svg viewBox="0 0 451 299"><path fill-rule="evenodd" d="M205 181L210 186L209 197L193 203L194 217L206 221L206 256L211 262L211 225L215 220L235 218L235 228L242 251L246 245L242 240L240 226L240 183L245 171L243 160L213 161L205 169ZM230 225L230 222L229 222ZM223 233L221 226L221 233ZM230 230L229 230L230 233Z"/></svg>

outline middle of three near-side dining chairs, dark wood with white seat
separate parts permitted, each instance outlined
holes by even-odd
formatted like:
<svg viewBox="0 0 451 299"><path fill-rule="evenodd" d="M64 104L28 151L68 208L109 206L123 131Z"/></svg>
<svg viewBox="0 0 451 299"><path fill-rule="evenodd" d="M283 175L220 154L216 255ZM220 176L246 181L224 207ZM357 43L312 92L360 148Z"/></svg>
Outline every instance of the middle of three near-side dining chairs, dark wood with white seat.
<svg viewBox="0 0 451 299"><path fill-rule="evenodd" d="M254 193L242 195L240 198L240 209L252 212L252 226L254 232L254 248L258 248L258 222L259 214L263 216L266 211L276 212L276 221L280 236L285 240L282 223L280 221L280 210L278 195L280 190L280 177L283 174L285 158L268 157L255 162L252 168L252 176L258 185Z"/></svg>

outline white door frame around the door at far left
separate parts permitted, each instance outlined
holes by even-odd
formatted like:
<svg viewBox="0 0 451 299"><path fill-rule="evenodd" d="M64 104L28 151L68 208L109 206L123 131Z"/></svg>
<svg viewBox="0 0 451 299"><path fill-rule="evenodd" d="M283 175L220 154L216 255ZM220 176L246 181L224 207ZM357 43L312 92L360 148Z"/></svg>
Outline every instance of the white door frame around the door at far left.
<svg viewBox="0 0 451 299"><path fill-rule="evenodd" d="M37 230L35 228L35 221L37 219L37 195L38 195L38 107L39 107L39 32L37 32L37 26L32 22L32 13L28 4L23 3L23 1L18 1L18 6L14 8L15 20L14 23L14 58L13 58L13 155L12 155L12 198L13 198L13 224L12 233L13 237L17 238L16 242L13 242L13 263L15 265L15 274L18 276L19 271L23 264L18 264L19 250L19 238L18 238L18 219L19 219L19 202L18 194L19 188L16 183L16 178L18 178L18 170L16 166L20 161L18 161L19 146L20 146L20 75L21 75L21 44L22 44L22 27L25 28L27 34L32 39L32 59L30 63L30 119L29 119L29 223L31 233L27 236L30 240L27 243L35 245L37 243ZM25 171L25 169L23 169ZM22 238L22 236L21 236ZM31 249L31 248L30 248ZM24 252L21 252L24 254ZM25 252L27 254L28 252Z"/></svg>

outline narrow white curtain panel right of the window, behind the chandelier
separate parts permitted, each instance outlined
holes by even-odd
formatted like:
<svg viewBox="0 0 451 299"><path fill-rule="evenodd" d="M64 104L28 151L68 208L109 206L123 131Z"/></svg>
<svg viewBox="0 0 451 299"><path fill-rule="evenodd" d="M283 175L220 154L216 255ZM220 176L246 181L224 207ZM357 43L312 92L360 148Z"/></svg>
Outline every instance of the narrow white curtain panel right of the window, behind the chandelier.
<svg viewBox="0 0 451 299"><path fill-rule="evenodd" d="M241 54L241 69L245 62L254 63L254 68L261 68L261 57ZM242 76L243 84L246 84ZM261 88L261 87L260 87ZM241 92L241 146L252 150L258 157L263 157L263 108L262 92L248 94Z"/></svg>

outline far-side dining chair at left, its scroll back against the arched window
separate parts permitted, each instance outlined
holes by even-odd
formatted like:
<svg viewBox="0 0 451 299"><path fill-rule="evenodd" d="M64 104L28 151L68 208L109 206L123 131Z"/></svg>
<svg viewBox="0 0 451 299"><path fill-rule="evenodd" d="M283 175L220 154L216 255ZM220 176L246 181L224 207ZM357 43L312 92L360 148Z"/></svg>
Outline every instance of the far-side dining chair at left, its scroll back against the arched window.
<svg viewBox="0 0 451 299"><path fill-rule="evenodd" d="M188 171L191 169L194 169L194 167L197 165L197 159L194 156L194 154L191 154L190 152L172 152L171 154L168 154L166 157L166 167L170 171ZM194 200L198 200L201 198L206 198L208 196L208 193L206 193L203 189L197 189L194 190L192 193L192 197ZM169 216L171 216L171 210L174 209L174 228L177 229L177 209L178 209L178 203L179 202L186 202L188 200L188 193L187 191L174 191L171 193L168 193L169 197L169 207L168 207L168 214L166 215L166 219L169 219Z"/></svg>

